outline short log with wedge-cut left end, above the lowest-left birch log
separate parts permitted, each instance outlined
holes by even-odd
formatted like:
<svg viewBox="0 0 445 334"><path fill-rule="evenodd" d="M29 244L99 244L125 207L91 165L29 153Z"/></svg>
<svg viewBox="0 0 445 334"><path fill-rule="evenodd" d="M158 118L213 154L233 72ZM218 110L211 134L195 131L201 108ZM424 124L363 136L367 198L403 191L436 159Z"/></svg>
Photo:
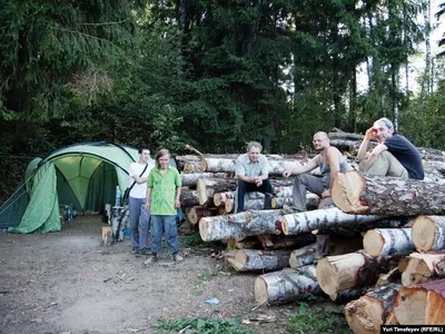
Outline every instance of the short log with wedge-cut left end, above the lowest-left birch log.
<svg viewBox="0 0 445 334"><path fill-rule="evenodd" d="M237 272L273 272L289 266L291 250L238 249L227 262Z"/></svg>

